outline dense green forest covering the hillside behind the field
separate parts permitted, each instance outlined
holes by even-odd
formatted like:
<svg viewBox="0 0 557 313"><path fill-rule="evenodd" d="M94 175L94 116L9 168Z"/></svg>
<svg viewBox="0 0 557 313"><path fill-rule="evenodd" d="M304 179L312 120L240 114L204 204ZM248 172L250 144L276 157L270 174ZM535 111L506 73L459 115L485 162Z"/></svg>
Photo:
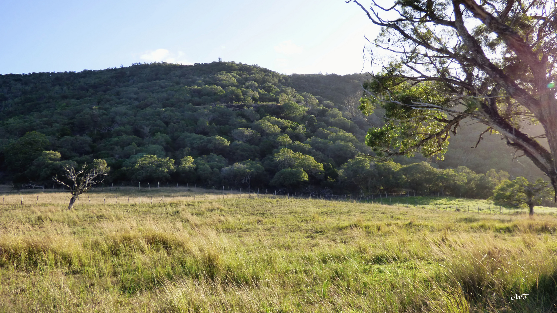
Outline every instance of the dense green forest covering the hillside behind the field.
<svg viewBox="0 0 557 313"><path fill-rule="evenodd" d="M52 185L63 165L101 158L115 184L486 198L509 174L541 176L496 136L471 149L482 130L474 126L443 162L370 162L365 134L383 121L358 109L369 77L234 62L1 75L1 179Z"/></svg>

